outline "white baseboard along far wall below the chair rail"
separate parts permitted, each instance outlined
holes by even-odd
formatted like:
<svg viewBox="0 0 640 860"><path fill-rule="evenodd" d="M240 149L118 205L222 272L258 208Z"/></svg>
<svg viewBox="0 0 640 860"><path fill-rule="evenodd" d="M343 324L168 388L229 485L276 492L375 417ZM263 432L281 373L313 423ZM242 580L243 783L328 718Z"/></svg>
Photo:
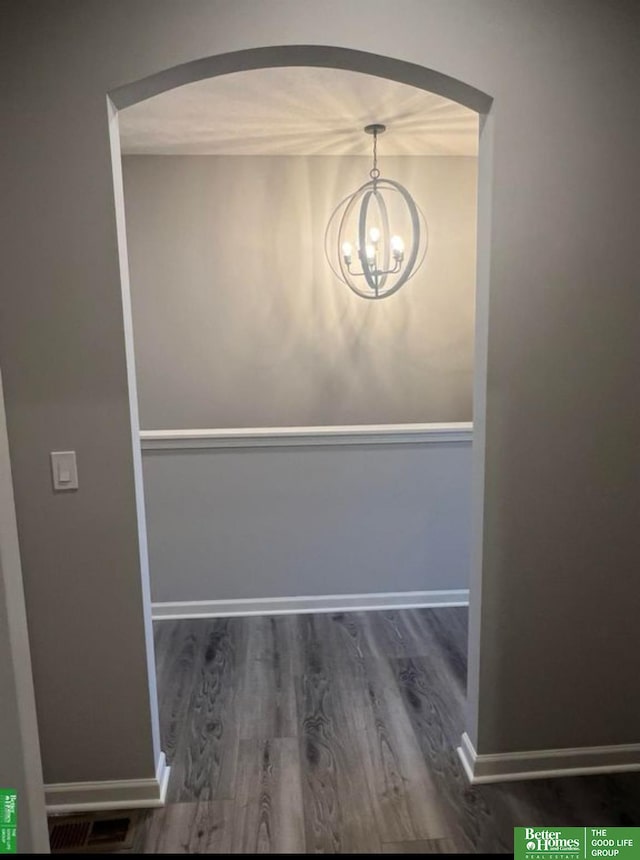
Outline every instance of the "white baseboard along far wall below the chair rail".
<svg viewBox="0 0 640 860"><path fill-rule="evenodd" d="M152 603L154 621L222 618L234 615L296 615L305 612L362 612L373 609L417 609L468 606L466 588L453 591L398 591L381 594L327 594L310 597L262 597L238 600L186 600Z"/></svg>

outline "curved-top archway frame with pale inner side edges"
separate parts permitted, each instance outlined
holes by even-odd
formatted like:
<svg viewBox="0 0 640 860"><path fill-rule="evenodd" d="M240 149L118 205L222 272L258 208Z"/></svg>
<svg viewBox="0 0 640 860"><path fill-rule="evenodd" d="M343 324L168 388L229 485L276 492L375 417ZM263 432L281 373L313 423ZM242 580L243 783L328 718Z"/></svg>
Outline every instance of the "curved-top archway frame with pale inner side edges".
<svg viewBox="0 0 640 860"><path fill-rule="evenodd" d="M118 222L118 242L120 249L121 278L123 293L123 312L126 334L127 367L129 377L131 425L133 434L134 470L138 508L138 529L141 554L143 556L143 591L145 598L145 623L147 629L147 651L149 677L155 686L153 671L153 638L151 634L151 607L148 582L148 561L146 559L146 526L144 516L144 493L142 466L139 450L139 422L137 414L136 381L133 358L133 334L131 321L130 292L126 235L124 225L124 199L122 177L119 165L119 142L117 113L137 102L151 98L185 84L205 78L212 78L233 72L249 71L273 67L304 66L336 68L362 72L413 87L433 92L456 101L474 110L481 116L478 182L478 249L476 275L476 332L474 361L474 444L472 478L472 572L469 605L469 677L467 687L468 734L476 735L476 713L479 674L480 641L480 596L482 531L484 503L484 425L486 356L488 342L488 282L489 282L489 226L490 226L490 176L492 165L492 118L490 114L493 99L476 88L451 78L441 72L424 66L408 63L390 57L365 53L346 48L320 45L285 45L254 48L227 54L218 54L163 70L147 78L126 84L111 91L108 96L110 127L112 139L112 161L114 168L114 189L116 216ZM155 689L152 701L157 700ZM158 714L154 713L154 735L159 749Z"/></svg>

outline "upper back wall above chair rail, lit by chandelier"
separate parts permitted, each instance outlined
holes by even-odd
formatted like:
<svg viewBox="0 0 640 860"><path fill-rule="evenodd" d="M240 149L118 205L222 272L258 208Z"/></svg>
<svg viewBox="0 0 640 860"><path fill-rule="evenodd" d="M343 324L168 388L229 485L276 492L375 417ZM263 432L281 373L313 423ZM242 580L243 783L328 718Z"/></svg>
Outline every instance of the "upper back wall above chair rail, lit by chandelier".
<svg viewBox="0 0 640 860"><path fill-rule="evenodd" d="M399 293L370 302L323 248L370 159L123 159L144 429L471 420L476 159L380 164L431 242Z"/></svg>

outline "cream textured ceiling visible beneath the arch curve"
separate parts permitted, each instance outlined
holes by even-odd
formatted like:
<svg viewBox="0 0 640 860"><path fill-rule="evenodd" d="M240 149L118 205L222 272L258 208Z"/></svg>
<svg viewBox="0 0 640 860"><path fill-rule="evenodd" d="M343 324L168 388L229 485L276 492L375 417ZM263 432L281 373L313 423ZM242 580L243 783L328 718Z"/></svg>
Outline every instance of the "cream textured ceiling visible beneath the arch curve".
<svg viewBox="0 0 640 860"><path fill-rule="evenodd" d="M362 129L382 122L380 155L478 153L478 115L424 90L360 72L286 67L187 84L120 113L129 155L369 155Z"/></svg>

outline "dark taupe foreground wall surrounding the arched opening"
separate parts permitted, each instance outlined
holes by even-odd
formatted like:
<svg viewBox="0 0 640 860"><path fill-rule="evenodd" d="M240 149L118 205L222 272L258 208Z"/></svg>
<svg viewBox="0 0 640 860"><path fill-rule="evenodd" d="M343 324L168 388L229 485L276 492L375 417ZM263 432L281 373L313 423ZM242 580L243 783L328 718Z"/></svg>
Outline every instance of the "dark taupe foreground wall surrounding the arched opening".
<svg viewBox="0 0 640 860"><path fill-rule="evenodd" d="M638 742L637 4L24 0L5 12L0 364L45 778L155 765L105 96L261 45L341 45L494 97L479 170L486 474L469 727L481 753ZM74 498L51 493L47 455L63 446L78 451Z"/></svg>

